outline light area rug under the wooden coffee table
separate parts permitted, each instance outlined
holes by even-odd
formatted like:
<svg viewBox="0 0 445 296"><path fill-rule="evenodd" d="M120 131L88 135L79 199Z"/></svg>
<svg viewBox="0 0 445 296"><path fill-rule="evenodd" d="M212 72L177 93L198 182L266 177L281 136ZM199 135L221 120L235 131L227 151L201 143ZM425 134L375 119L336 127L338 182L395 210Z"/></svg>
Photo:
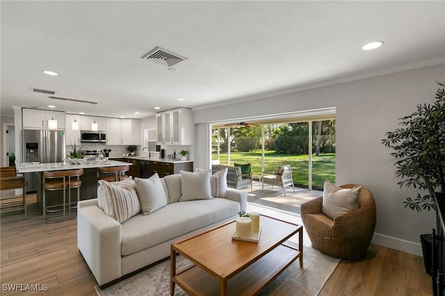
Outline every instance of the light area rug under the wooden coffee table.
<svg viewBox="0 0 445 296"><path fill-rule="evenodd" d="M339 259L322 254L312 247L304 247L303 266L300 267L300 261L297 259L260 295L318 295L339 261ZM180 270L189 264L190 261L186 258L178 256L177 269ZM139 272L104 290L100 290L98 286L95 286L95 289L99 296L170 295L170 260ZM176 286L175 295L187 294Z"/></svg>

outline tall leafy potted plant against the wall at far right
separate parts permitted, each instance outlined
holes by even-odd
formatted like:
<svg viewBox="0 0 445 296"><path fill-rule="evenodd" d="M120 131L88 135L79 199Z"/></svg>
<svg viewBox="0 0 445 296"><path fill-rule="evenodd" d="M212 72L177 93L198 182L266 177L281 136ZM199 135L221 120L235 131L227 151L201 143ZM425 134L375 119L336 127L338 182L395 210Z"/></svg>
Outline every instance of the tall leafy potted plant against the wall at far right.
<svg viewBox="0 0 445 296"><path fill-rule="evenodd" d="M437 84L434 104L417 105L416 112L399 118L401 127L387 132L382 140L394 149L391 156L396 158L396 176L401 178L398 185L428 190L405 199L405 208L412 211L436 210L434 197L445 198L445 84ZM431 275L431 234L421 235L421 242L425 268Z"/></svg>

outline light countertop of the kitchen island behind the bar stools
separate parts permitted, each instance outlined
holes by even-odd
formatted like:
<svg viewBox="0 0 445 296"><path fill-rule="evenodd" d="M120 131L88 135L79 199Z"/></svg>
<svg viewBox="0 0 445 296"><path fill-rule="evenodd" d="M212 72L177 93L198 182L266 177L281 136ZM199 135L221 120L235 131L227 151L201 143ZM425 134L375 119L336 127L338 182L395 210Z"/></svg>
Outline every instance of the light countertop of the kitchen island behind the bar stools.
<svg viewBox="0 0 445 296"><path fill-rule="evenodd" d="M93 169L96 167L117 167L119 165L133 165L133 163L124 163L122 161L107 161L106 163L88 163L82 165L66 165L64 163L22 163L17 165L17 173L23 174L28 172L46 172L46 171L63 171L63 170L76 170L76 169Z"/></svg>

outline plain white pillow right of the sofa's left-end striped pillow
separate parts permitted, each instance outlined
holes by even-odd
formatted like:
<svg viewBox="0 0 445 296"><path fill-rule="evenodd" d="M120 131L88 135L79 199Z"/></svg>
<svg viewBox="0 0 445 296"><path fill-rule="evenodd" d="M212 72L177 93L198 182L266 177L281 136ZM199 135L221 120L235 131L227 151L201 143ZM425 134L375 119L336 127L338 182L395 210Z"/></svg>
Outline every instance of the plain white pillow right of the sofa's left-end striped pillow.
<svg viewBox="0 0 445 296"><path fill-rule="evenodd" d="M134 182L136 183L140 208L144 215L151 214L167 205L167 196L158 173L150 176L149 179L135 178Z"/></svg>

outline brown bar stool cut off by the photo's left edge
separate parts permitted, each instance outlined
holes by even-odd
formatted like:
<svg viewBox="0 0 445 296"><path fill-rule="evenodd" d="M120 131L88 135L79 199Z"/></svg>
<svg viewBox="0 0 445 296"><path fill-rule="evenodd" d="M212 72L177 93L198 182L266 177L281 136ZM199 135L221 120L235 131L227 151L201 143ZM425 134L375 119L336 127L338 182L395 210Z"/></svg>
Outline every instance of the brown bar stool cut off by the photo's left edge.
<svg viewBox="0 0 445 296"><path fill-rule="evenodd" d="M22 202L16 202L17 197L2 198L0 208L14 209L15 206L24 207L25 219L26 219L26 180L24 176L17 176L15 167L1 167L0 168L0 190L15 190L22 189ZM6 199L11 199L12 202L6 202ZM9 211L8 211L9 212Z"/></svg>

